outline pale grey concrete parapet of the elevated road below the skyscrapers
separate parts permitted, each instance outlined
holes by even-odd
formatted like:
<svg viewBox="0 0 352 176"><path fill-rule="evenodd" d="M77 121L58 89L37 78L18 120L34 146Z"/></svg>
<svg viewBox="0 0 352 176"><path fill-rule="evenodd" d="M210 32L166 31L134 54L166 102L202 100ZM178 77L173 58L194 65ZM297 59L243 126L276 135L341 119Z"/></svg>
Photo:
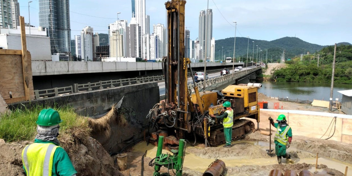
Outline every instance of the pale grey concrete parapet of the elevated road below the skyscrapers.
<svg viewBox="0 0 352 176"><path fill-rule="evenodd" d="M207 62L207 67L231 66L233 63ZM243 63L234 63L243 65ZM191 63L192 68L204 68L203 62ZM32 61L33 76L102 73L138 70L162 70L161 62L81 62Z"/></svg>

